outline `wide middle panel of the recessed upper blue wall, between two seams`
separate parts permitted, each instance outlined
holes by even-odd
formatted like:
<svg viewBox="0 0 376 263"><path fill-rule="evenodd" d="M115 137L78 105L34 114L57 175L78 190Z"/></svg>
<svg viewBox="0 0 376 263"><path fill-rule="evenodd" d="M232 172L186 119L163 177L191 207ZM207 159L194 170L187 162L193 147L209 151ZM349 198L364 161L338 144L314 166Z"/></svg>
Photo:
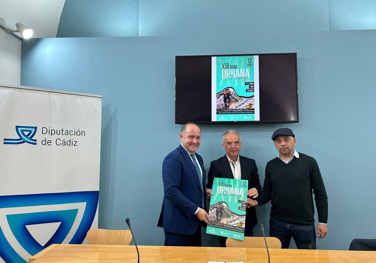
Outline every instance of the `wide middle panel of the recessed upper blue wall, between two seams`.
<svg viewBox="0 0 376 263"><path fill-rule="evenodd" d="M327 0L140 0L139 36L329 30Z"/></svg>

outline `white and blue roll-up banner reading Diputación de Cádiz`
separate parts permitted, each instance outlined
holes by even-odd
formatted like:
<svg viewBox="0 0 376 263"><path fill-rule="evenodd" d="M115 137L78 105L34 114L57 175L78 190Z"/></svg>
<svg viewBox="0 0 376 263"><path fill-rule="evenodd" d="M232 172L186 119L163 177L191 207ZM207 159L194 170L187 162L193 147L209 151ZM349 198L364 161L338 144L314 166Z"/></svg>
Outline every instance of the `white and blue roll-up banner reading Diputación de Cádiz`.
<svg viewBox="0 0 376 263"><path fill-rule="evenodd" d="M101 99L0 84L0 262L97 227Z"/></svg>

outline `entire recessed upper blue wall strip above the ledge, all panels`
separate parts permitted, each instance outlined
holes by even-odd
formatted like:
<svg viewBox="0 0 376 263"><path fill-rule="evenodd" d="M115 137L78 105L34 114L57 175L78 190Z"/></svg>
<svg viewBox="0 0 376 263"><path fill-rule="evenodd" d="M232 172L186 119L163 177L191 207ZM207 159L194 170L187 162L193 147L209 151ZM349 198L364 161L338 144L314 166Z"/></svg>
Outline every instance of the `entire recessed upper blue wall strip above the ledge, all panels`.
<svg viewBox="0 0 376 263"><path fill-rule="evenodd" d="M374 0L65 0L57 37L376 29Z"/></svg>

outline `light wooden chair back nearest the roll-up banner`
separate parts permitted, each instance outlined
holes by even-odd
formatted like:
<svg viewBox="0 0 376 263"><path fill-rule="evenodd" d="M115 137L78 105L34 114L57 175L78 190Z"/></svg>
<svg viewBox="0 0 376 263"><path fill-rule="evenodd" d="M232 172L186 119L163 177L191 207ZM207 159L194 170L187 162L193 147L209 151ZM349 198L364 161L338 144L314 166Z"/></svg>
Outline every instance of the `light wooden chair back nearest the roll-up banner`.
<svg viewBox="0 0 376 263"><path fill-rule="evenodd" d="M91 228L86 238L90 245L129 245L132 241L132 233L130 230Z"/></svg>

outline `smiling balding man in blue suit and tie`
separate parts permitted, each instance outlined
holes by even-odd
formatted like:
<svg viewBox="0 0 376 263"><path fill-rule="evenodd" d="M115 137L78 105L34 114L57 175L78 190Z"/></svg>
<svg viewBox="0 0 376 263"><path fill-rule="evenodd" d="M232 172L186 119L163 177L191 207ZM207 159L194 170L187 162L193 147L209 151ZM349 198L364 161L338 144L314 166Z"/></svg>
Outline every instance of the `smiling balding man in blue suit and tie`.
<svg viewBox="0 0 376 263"><path fill-rule="evenodd" d="M188 123L179 136L181 144L162 164L164 196L158 227L165 232L165 246L201 246L201 225L209 219L204 163L196 153L201 130Z"/></svg>

